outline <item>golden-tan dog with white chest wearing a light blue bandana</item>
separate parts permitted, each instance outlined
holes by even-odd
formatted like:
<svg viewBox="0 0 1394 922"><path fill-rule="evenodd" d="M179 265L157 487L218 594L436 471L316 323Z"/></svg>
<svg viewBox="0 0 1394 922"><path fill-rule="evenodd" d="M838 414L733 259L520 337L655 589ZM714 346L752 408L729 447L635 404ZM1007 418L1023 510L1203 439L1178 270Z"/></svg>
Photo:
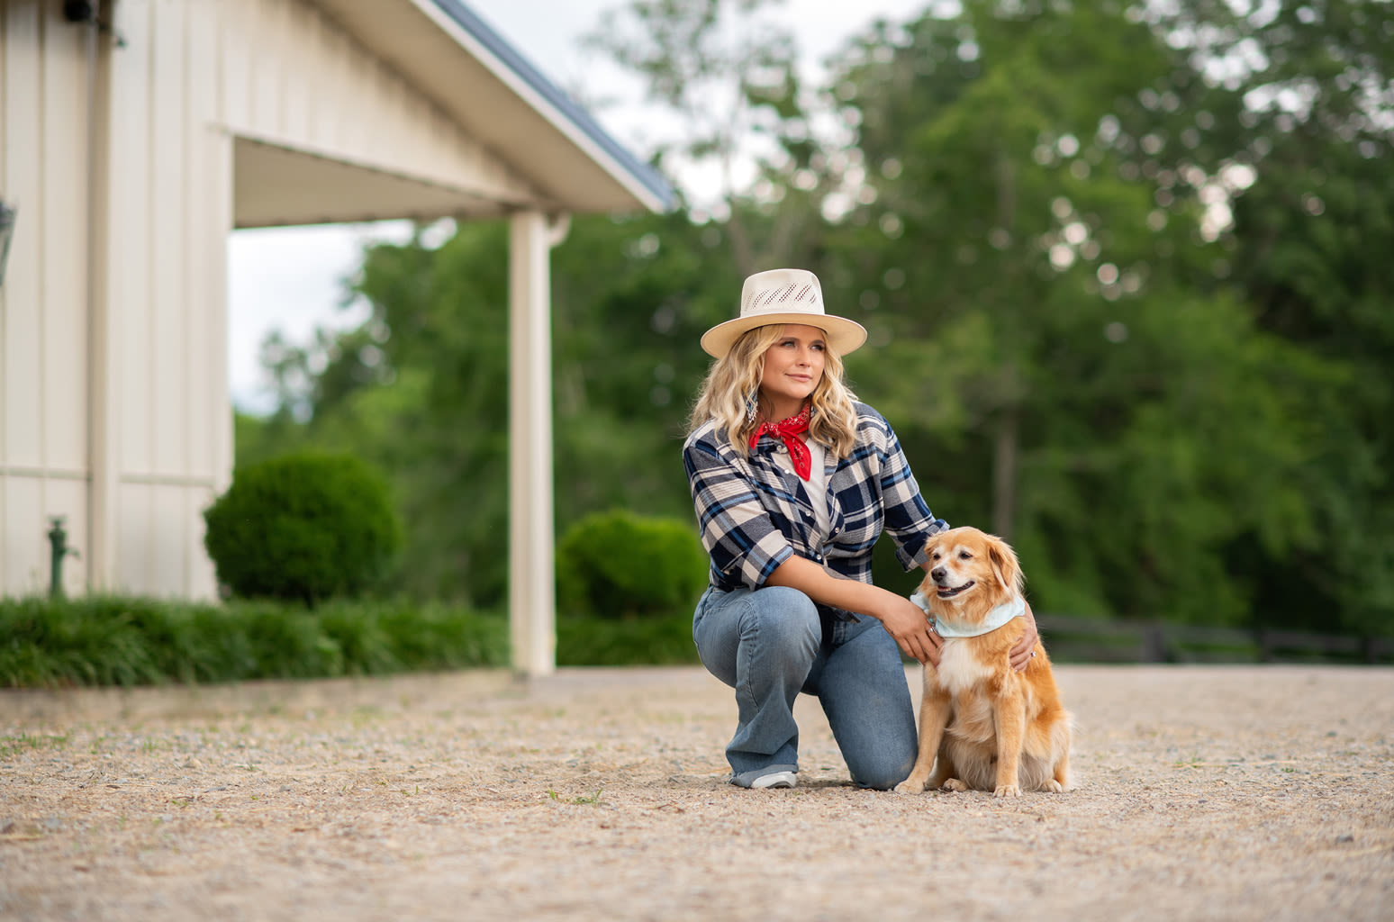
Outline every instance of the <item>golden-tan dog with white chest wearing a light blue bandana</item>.
<svg viewBox="0 0 1394 922"><path fill-rule="evenodd" d="M1012 617L1025 614L1016 552L970 527L934 536L927 551L933 566L916 601L935 619L944 649L938 667L924 664L919 757L895 789L1065 791L1072 717L1046 647L1036 643L1025 672L1008 661L1025 632Z"/></svg>

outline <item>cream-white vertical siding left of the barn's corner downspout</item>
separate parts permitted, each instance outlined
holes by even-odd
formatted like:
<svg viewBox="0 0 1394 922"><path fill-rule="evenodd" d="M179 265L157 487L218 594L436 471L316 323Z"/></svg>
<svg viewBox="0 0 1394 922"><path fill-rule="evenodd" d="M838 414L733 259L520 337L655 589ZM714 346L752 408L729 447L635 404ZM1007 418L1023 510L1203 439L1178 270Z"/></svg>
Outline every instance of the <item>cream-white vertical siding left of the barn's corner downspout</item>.
<svg viewBox="0 0 1394 922"><path fill-rule="evenodd" d="M0 3L0 197L20 222L0 287L0 594L46 591L47 530L88 543L85 33ZM81 591L81 559L64 562Z"/></svg>

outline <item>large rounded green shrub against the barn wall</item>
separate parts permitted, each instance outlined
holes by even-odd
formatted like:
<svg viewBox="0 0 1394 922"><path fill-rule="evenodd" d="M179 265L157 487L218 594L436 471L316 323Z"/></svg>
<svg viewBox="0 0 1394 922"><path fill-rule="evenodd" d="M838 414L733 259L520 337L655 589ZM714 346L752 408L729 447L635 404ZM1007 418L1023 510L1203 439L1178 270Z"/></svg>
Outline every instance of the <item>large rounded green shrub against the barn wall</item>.
<svg viewBox="0 0 1394 922"><path fill-rule="evenodd" d="M361 596L381 583L401 540L386 483L348 455L238 467L204 520L219 582L244 598Z"/></svg>

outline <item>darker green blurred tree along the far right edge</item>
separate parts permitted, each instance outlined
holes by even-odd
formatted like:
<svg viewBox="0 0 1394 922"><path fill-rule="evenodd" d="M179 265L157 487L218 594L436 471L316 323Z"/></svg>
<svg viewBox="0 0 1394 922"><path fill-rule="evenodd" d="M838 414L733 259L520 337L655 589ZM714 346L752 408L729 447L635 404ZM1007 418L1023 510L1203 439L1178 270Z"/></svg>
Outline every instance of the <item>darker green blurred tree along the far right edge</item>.
<svg viewBox="0 0 1394 922"><path fill-rule="evenodd" d="M1231 565L1280 624L1394 630L1394 4L1196 0L1158 25L1209 63L1182 142L1211 152L1211 173L1252 170L1224 285L1262 329L1340 367L1305 410L1310 552L1236 544Z"/></svg>

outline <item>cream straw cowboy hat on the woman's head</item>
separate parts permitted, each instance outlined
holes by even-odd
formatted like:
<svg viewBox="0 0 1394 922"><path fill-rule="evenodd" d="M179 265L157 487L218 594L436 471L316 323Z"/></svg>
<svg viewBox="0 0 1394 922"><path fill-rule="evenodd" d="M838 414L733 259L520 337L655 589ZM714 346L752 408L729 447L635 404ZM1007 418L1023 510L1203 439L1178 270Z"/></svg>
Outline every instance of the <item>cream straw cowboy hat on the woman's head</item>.
<svg viewBox="0 0 1394 922"><path fill-rule="evenodd" d="M740 335L768 324L806 324L828 336L828 347L846 356L867 340L861 324L822 310L822 286L807 269L756 272L740 289L740 317L717 324L701 338L708 356L721 358Z"/></svg>

